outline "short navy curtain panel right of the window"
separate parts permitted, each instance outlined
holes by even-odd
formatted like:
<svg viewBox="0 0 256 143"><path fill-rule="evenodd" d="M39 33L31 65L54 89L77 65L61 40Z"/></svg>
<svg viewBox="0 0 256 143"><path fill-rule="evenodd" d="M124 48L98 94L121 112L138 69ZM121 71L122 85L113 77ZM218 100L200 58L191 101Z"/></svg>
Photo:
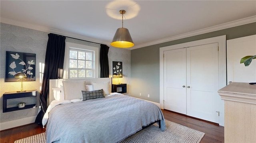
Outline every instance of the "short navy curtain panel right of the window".
<svg viewBox="0 0 256 143"><path fill-rule="evenodd" d="M100 77L109 77L107 45L100 44Z"/></svg>

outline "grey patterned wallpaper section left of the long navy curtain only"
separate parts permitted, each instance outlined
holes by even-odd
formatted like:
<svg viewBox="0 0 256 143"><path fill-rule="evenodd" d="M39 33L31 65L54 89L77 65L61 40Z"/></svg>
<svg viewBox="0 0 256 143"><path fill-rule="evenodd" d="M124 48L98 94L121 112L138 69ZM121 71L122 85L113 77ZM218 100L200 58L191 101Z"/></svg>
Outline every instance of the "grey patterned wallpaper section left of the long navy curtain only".
<svg viewBox="0 0 256 143"><path fill-rule="evenodd" d="M40 63L44 63L46 46L48 41L48 33L19 27L10 24L1 23L0 25L0 122L12 121L16 119L36 116L37 108L30 108L12 112L3 113L3 94L5 92L18 91L21 88L20 82L4 82L5 81L5 66L6 66L6 51L34 53L36 54L36 81L23 82L24 90L40 90ZM19 100L22 98L18 98ZM18 99L7 100L8 107L17 105L20 102ZM23 102L28 104L34 102L34 98L26 98ZM39 105L39 97L38 97Z"/></svg>

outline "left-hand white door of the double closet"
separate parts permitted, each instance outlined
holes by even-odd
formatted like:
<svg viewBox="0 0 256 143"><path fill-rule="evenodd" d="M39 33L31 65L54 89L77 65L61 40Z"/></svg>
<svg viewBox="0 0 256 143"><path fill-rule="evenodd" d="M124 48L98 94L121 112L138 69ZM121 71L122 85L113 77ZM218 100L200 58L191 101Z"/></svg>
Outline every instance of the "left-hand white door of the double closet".
<svg viewBox="0 0 256 143"><path fill-rule="evenodd" d="M164 109L186 114L186 48L164 51Z"/></svg>

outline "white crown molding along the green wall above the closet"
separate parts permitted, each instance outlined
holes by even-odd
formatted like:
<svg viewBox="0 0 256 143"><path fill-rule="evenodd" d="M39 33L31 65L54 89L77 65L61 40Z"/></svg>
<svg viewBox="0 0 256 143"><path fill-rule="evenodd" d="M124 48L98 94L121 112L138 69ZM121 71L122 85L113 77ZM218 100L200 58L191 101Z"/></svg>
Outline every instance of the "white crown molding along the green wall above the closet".
<svg viewBox="0 0 256 143"><path fill-rule="evenodd" d="M220 24L220 25L200 29L200 30L196 30L196 31L192 31L192 32L188 32L188 33L184 33L184 34L164 38L164 39L160 39L160 40L157 40L157 41L152 41L152 42L145 43L145 44L135 45L134 47L129 48L129 49L130 50L138 49L138 48L147 47L147 46L150 46L150 45L156 45L156 44L169 42L169 41L173 41L173 40L177 40L177 39L182 39L182 38L186 38L186 37L191 37L191 36L195 36L195 35L200 35L200 34L204 34L204 33L209 33L209 32L213 32L213 31L218 31L218 30L222 30L222 29L236 27L236 26L239 26L239 25L250 24L250 23L253 23L253 22L256 22L256 16L243 18L243 19L236 20L236 21L233 21L233 22L228 22L228 23L225 23L225 24Z"/></svg>

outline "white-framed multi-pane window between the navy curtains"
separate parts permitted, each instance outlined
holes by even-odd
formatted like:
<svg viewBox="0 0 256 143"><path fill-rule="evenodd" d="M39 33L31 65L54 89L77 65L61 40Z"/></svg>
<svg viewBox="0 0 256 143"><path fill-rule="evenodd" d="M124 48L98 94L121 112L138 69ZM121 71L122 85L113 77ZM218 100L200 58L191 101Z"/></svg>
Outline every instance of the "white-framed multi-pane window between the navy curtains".
<svg viewBox="0 0 256 143"><path fill-rule="evenodd" d="M64 78L98 78L98 47L66 42Z"/></svg>

